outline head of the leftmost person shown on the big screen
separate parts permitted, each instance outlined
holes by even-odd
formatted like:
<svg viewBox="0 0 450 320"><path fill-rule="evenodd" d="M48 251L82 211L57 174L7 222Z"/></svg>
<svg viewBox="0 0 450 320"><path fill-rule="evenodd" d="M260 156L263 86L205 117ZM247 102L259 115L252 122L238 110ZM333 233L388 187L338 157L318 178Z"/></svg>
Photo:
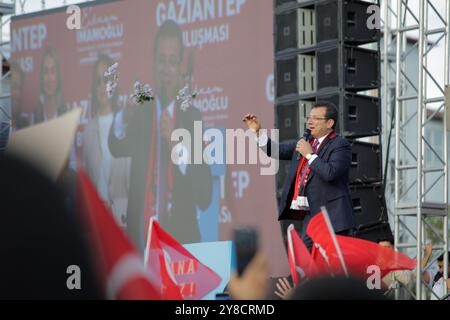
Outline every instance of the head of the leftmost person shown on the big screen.
<svg viewBox="0 0 450 320"><path fill-rule="evenodd" d="M29 120L23 114L23 87L25 73L17 60L11 60L11 120L14 129L20 129L29 125Z"/></svg>

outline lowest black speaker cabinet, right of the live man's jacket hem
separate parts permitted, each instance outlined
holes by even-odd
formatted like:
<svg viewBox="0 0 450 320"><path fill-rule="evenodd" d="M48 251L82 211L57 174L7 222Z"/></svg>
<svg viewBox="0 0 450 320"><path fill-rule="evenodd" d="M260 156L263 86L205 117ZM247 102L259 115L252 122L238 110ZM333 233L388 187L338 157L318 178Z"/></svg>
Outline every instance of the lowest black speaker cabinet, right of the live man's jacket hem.
<svg viewBox="0 0 450 320"><path fill-rule="evenodd" d="M381 184L351 186L350 192L357 230L388 221Z"/></svg>

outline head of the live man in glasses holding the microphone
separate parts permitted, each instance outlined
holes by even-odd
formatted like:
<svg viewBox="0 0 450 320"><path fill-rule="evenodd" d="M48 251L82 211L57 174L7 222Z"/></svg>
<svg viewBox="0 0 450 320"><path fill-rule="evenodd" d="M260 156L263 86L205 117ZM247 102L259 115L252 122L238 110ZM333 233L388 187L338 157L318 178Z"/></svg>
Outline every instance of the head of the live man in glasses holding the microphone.
<svg viewBox="0 0 450 320"><path fill-rule="evenodd" d="M333 103L328 101L317 102L307 117L308 128L311 130L311 135L316 139L333 131L337 121L337 108Z"/></svg>

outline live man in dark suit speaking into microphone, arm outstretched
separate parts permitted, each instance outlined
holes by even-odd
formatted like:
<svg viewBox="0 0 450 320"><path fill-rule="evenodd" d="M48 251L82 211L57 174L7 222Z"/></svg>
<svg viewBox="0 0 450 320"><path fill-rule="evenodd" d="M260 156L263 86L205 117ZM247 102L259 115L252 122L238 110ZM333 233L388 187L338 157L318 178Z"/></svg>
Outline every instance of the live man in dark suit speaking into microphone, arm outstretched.
<svg viewBox="0 0 450 320"><path fill-rule="evenodd" d="M291 161L279 203L278 220L303 220L301 234L309 249L312 241L306 235L306 228L311 218L321 211L321 206L327 208L337 234L348 235L354 226L348 187L351 146L334 132L337 117L337 109L332 103L319 102L307 118L311 130L309 141L300 139L280 144L271 141L266 134L259 134L261 124L255 115L248 114L243 119L256 132L258 144L269 156Z"/></svg>

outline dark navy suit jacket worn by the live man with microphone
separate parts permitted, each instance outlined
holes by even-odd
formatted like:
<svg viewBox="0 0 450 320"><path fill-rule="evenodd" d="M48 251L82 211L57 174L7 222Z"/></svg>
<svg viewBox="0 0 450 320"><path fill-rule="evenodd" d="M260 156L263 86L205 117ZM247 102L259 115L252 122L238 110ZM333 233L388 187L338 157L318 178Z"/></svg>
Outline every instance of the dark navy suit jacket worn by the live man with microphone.
<svg viewBox="0 0 450 320"><path fill-rule="evenodd" d="M280 160L290 160L291 166L283 186L279 203L278 220L295 219L298 212L290 209L294 197L295 179L298 165L295 151L297 141L289 141L275 145L269 139L266 152L269 156L274 148L279 148ZM326 139L318 150L318 158L311 164L311 172L305 188L310 214L305 217L304 230L309 220L325 206L335 232L348 230L354 226L354 216L350 197L349 171L351 165L350 143L336 135Z"/></svg>

